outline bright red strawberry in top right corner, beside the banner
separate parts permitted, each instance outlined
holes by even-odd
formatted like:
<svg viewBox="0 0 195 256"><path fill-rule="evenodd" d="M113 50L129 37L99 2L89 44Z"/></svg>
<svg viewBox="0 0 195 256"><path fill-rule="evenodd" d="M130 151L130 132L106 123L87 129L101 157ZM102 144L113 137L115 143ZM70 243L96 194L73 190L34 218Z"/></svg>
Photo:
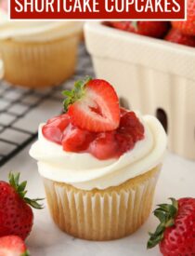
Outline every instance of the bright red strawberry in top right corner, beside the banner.
<svg viewBox="0 0 195 256"><path fill-rule="evenodd" d="M172 21L174 28L178 29L182 34L195 36L195 1L188 0L187 19L186 21Z"/></svg>

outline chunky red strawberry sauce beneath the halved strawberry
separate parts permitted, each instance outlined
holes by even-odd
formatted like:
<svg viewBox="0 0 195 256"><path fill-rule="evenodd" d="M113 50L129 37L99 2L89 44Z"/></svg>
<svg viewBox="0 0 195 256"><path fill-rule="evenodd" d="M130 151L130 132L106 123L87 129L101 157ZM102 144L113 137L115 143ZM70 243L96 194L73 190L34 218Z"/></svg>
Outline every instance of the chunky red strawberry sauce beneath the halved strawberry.
<svg viewBox="0 0 195 256"><path fill-rule="evenodd" d="M66 152L89 153L99 160L118 158L144 139L144 127L134 112L121 109L119 128L91 132L74 127L68 114L49 119L42 129L45 139L62 145Z"/></svg>

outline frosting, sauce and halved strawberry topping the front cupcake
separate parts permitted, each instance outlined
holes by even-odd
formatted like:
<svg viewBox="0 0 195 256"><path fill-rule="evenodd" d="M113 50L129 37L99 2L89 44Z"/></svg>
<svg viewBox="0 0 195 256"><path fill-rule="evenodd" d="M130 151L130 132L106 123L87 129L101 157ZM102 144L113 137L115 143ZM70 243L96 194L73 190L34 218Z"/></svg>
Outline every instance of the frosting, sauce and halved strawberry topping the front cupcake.
<svg viewBox="0 0 195 256"><path fill-rule="evenodd" d="M42 176L84 190L105 189L162 162L166 134L160 122L120 108L108 82L87 78L65 95L66 114L41 124L30 150Z"/></svg>

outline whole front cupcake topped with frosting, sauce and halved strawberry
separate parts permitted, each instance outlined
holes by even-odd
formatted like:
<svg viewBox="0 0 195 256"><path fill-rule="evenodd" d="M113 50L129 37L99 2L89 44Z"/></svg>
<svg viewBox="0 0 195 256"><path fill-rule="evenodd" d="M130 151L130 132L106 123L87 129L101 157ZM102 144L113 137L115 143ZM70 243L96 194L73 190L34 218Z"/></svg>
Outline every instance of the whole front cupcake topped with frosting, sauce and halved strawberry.
<svg viewBox="0 0 195 256"><path fill-rule="evenodd" d="M71 236L111 240L150 215L166 134L150 115L120 108L112 86L87 78L65 91L65 114L39 127L38 161L51 216Z"/></svg>

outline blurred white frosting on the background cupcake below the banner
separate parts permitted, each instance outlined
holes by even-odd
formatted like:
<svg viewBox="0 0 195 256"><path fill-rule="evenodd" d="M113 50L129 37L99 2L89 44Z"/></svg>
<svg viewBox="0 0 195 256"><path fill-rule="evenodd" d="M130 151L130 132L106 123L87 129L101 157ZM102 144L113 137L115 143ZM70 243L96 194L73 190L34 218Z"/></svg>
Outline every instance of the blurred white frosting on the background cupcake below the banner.
<svg viewBox="0 0 195 256"><path fill-rule="evenodd" d="M82 31L83 23L71 20L52 21L20 21L8 20L7 15L0 10L0 40L15 41L49 41Z"/></svg>

